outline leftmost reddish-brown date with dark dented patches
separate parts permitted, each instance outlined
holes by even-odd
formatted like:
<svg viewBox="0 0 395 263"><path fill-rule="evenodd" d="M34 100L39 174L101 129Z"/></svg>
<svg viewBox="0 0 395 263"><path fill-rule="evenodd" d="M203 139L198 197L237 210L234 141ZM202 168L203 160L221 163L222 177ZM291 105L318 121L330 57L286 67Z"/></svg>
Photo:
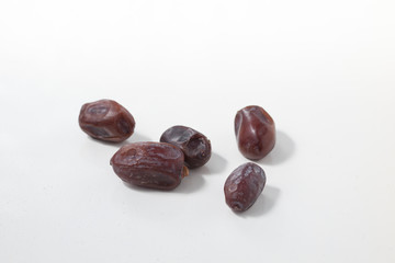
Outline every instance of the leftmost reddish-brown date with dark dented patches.
<svg viewBox="0 0 395 263"><path fill-rule="evenodd" d="M136 123L132 114L117 102L100 100L82 105L79 125L95 139L121 142L131 137Z"/></svg>

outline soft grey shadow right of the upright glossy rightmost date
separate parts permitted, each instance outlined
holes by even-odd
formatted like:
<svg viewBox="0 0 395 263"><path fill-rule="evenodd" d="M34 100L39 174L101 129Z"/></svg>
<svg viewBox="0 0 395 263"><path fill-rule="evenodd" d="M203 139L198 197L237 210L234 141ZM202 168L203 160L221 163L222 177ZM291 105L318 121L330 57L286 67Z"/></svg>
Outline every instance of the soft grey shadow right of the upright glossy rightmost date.
<svg viewBox="0 0 395 263"><path fill-rule="evenodd" d="M281 130L276 132L273 150L259 161L260 164L275 165L289 160L295 151L295 142Z"/></svg>

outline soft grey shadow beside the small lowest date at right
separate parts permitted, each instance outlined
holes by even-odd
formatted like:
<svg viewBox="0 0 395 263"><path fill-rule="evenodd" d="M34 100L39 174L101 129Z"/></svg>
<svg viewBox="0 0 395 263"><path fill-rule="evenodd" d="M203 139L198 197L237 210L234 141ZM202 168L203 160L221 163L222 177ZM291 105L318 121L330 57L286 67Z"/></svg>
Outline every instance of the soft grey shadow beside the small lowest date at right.
<svg viewBox="0 0 395 263"><path fill-rule="evenodd" d="M240 217L259 217L269 213L278 202L280 196L280 188L273 186L264 186L262 194L258 197L256 203L246 211L235 213Z"/></svg>

